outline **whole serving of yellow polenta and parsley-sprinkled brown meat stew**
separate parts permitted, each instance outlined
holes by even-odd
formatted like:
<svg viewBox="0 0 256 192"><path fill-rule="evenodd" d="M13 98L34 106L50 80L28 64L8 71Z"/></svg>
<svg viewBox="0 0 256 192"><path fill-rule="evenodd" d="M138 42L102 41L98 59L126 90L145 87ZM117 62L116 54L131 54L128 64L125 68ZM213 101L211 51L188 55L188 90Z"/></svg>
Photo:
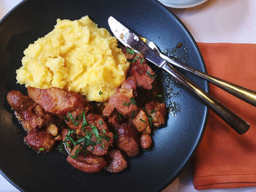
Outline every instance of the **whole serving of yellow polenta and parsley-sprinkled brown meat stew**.
<svg viewBox="0 0 256 192"><path fill-rule="evenodd" d="M166 109L153 96L157 74L143 55L127 47L121 53L88 17L58 20L25 55L17 79L28 95L10 91L7 101L33 150L50 153L59 144L76 169L116 173L152 148L152 128L165 124Z"/></svg>

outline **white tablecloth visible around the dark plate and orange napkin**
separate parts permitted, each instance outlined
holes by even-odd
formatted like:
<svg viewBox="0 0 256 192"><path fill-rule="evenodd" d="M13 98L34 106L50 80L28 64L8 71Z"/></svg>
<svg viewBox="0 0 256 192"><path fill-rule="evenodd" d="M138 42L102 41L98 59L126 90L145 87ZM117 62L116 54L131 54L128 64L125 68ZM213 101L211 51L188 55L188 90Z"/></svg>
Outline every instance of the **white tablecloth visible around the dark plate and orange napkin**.
<svg viewBox="0 0 256 192"><path fill-rule="evenodd" d="M22 0L0 0L0 19ZM256 43L256 0L208 0L189 9L172 9L197 42ZM0 37L1 38L1 37ZM1 157L0 157L1 158ZM0 174L0 192L18 192ZM191 165L163 192L195 192ZM211 189L202 192L251 192L252 188ZM198 191L197 191L198 192Z"/></svg>

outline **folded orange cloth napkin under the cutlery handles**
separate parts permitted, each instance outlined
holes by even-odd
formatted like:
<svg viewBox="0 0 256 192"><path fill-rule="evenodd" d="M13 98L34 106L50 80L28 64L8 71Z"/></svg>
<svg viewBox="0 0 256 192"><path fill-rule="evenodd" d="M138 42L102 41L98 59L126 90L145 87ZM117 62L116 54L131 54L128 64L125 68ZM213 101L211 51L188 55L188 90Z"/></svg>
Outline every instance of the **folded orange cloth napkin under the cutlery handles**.
<svg viewBox="0 0 256 192"><path fill-rule="evenodd" d="M208 74L256 91L256 45L198 43ZM193 158L195 189L256 186L256 107L210 85L210 93L250 123L242 135L214 112Z"/></svg>

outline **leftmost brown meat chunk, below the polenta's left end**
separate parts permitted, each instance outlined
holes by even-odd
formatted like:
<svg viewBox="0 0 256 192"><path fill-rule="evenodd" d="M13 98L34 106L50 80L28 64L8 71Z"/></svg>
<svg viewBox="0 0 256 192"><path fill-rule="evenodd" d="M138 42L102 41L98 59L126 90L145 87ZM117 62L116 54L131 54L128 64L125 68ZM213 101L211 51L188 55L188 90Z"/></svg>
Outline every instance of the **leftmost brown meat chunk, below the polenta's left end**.
<svg viewBox="0 0 256 192"><path fill-rule="evenodd" d="M7 101L16 112L23 112L29 110L35 102L29 96L24 96L20 91L10 91L7 93Z"/></svg>

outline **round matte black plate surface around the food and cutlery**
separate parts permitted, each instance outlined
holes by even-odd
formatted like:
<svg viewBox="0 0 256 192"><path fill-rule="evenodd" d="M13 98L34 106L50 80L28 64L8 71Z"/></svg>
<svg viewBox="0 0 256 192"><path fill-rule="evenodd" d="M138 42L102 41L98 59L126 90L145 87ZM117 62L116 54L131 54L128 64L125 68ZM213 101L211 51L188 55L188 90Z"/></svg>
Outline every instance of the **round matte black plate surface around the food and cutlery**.
<svg viewBox="0 0 256 192"><path fill-rule="evenodd" d="M37 155L23 145L22 131L6 101L7 91L25 90L15 80L15 69L21 66L23 50L51 31L57 18L75 20L83 15L89 15L99 27L108 30L108 17L112 15L137 34L156 42L162 50L183 42L184 45L169 53L205 71L192 36L181 21L157 1L24 1L0 24L1 174L20 191L160 191L178 176L195 151L208 114L207 107L176 86L170 77L159 78L163 80L165 101L170 104L170 110L174 109L167 127L154 134L153 150L130 158L124 172L86 174L72 169L59 153ZM205 81L191 78L208 91Z"/></svg>

